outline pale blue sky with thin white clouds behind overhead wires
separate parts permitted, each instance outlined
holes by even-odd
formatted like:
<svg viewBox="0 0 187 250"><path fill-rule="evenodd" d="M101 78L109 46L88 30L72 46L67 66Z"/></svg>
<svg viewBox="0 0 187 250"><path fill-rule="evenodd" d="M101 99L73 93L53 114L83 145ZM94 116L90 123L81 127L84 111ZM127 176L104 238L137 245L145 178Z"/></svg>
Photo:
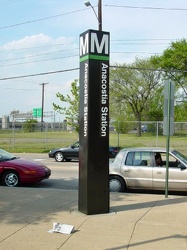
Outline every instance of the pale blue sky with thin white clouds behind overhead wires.
<svg viewBox="0 0 187 250"><path fill-rule="evenodd" d="M97 12L98 1L90 2ZM187 38L184 0L102 0L102 13L111 65L160 54L171 41ZM2 79L78 68L79 35L97 28L84 0L0 0L0 117L41 107L41 83L48 83L44 111L53 111L53 102L62 104L56 93L69 93L78 70Z"/></svg>

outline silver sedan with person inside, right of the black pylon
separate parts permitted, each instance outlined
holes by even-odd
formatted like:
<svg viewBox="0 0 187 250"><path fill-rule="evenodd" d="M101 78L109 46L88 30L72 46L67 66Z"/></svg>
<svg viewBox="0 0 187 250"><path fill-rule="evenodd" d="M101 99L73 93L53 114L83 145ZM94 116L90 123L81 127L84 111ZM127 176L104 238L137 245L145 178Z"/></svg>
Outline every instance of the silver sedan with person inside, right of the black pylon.
<svg viewBox="0 0 187 250"><path fill-rule="evenodd" d="M122 149L110 163L111 192L126 189L164 190L166 178L166 149ZM187 157L177 150L169 152L168 189L187 190Z"/></svg>

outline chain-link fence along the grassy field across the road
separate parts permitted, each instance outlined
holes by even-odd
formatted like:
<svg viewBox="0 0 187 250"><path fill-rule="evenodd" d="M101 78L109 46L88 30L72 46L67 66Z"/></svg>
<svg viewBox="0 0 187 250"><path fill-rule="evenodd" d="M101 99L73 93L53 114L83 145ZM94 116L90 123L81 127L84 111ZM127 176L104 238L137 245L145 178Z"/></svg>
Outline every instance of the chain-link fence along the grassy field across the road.
<svg viewBox="0 0 187 250"><path fill-rule="evenodd" d="M113 122L110 124L109 141L119 147L165 147L163 122L141 122L141 136L137 136L139 122ZM186 153L187 123L174 123L171 146ZM22 122L0 123L0 148L11 152L48 152L51 148L65 147L78 140L78 134L64 123L37 123L25 127Z"/></svg>

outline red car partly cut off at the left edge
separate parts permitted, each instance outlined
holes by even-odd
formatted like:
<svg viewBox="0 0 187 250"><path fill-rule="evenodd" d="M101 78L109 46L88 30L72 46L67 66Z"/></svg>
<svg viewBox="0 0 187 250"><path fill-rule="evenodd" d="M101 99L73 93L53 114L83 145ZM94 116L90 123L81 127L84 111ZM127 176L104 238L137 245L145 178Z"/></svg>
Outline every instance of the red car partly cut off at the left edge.
<svg viewBox="0 0 187 250"><path fill-rule="evenodd" d="M2 185L16 187L48 179L51 170L40 162L20 159L0 149L0 181Z"/></svg>

